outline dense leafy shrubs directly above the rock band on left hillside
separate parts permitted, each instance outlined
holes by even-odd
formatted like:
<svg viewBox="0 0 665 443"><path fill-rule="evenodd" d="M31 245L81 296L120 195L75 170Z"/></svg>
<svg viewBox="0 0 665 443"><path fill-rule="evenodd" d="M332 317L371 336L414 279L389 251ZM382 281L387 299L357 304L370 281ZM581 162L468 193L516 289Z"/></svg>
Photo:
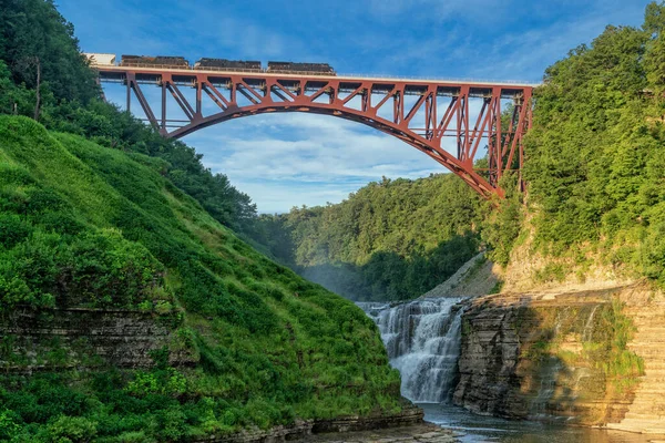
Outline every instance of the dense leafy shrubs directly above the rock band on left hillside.
<svg viewBox="0 0 665 443"><path fill-rule="evenodd" d="M2 168L0 312L16 305L124 308L170 299L164 268L144 246L116 229L86 226L73 205L20 166Z"/></svg>

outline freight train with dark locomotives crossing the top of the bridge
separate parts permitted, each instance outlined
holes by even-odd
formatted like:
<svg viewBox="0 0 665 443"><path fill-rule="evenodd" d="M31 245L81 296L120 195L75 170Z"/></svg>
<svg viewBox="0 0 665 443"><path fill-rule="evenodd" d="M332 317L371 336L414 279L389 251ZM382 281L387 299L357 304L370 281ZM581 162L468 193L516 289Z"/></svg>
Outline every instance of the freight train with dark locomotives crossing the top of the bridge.
<svg viewBox="0 0 665 443"><path fill-rule="evenodd" d="M114 66L115 54L83 54L91 66ZM193 65L184 56L173 55L121 55L120 65L126 68L167 68L186 69L196 71L231 71L231 72L269 72L269 73L298 73L310 75L336 75L328 63L299 63L269 61L267 69L263 69L259 61L200 59Z"/></svg>

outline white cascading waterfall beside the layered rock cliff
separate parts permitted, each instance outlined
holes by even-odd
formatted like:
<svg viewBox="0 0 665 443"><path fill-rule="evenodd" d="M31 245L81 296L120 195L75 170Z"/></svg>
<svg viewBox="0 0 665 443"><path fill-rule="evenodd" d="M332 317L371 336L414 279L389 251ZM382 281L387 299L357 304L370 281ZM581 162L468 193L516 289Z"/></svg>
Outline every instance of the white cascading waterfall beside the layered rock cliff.
<svg viewBox="0 0 665 443"><path fill-rule="evenodd" d="M463 298L430 298L397 306L358 303L381 332L390 364L401 373L401 393L419 403L441 403L454 389Z"/></svg>

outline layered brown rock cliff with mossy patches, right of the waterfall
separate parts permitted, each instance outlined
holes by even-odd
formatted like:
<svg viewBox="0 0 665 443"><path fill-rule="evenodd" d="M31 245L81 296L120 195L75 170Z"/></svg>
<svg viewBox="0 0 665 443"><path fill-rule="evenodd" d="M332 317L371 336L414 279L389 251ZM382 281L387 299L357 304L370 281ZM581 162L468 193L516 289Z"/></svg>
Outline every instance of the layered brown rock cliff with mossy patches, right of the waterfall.
<svg viewBox="0 0 665 443"><path fill-rule="evenodd" d="M488 296L463 316L454 402L512 419L620 422L643 359L627 349L634 326L621 290Z"/></svg>

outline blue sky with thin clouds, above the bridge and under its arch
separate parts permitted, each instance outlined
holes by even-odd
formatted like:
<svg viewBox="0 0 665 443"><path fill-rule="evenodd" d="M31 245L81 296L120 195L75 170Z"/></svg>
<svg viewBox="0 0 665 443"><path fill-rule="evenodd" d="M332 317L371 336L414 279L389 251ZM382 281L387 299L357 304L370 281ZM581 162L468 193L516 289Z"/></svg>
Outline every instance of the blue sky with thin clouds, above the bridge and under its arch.
<svg viewBox="0 0 665 443"><path fill-rule="evenodd" d="M641 25L647 2L60 0L58 7L84 52L325 62L345 74L538 83L605 25ZM119 86L105 91L123 104ZM156 97L156 87L146 94ZM446 172L397 138L323 115L263 114L183 141L260 213L338 203L382 176Z"/></svg>

